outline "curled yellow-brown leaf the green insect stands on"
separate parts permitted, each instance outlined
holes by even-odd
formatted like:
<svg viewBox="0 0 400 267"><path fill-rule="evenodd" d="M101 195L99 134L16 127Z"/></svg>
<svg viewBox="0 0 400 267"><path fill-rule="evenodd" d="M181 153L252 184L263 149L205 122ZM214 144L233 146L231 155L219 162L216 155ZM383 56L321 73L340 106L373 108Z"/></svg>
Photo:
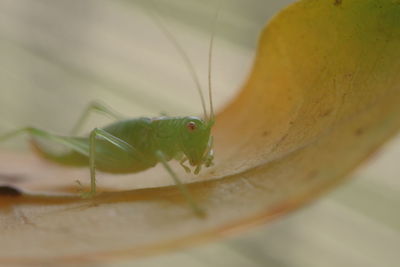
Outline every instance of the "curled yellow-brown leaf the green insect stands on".
<svg viewBox="0 0 400 267"><path fill-rule="evenodd" d="M0 261L143 256L240 232L317 198L400 126L399 14L392 0L304 0L270 22L246 85L218 114L216 166L189 185L205 219L174 186L92 200L4 187ZM2 179L29 192L73 191L87 175L30 154L3 153L1 162ZM106 177L103 191L137 181Z"/></svg>

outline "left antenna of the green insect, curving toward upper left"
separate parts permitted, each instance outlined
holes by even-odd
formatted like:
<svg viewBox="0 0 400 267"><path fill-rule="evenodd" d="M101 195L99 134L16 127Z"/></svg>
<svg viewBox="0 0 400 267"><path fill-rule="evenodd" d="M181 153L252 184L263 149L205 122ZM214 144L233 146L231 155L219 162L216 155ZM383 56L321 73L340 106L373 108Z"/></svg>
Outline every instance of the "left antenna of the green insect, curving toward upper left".
<svg viewBox="0 0 400 267"><path fill-rule="evenodd" d="M151 5L154 7L154 9L158 9L157 6L155 5L155 3L153 1L149 1L151 3ZM163 32L163 34L165 35L165 37L167 37L167 39L172 43L172 45L175 47L176 51L178 52L178 54L181 56L181 58L183 59L186 67L189 70L190 75L192 76L192 80L196 86L197 92L199 93L200 96L200 100L201 100L201 106L203 107L203 113L204 113L204 119L208 118L208 114L207 114L207 109L206 109L206 102L204 100L204 95L203 95L203 91L201 90L201 85L200 85L200 81L199 81L199 77L197 76L197 73L193 67L192 62L190 61L189 56L186 54L185 50L182 48L182 46L178 43L178 41L176 40L175 36L168 30L168 28L165 26L165 23L163 23L162 18L158 15L156 15L156 13L149 11L148 9L146 9L148 11L148 13L150 14L151 17L153 17L154 22L157 24L157 26L160 28L160 30Z"/></svg>

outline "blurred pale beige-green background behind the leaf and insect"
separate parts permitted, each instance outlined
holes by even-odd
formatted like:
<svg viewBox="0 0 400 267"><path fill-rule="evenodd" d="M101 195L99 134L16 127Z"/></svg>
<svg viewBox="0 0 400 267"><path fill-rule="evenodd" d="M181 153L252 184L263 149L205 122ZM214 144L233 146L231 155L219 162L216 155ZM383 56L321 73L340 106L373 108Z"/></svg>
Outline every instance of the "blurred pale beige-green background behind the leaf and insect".
<svg viewBox="0 0 400 267"><path fill-rule="evenodd" d="M67 133L92 100L132 117L200 114L187 67L148 13L174 33L206 88L218 2L0 0L0 132L32 125ZM290 2L222 1L213 57L217 109L245 81L261 29ZM87 129L105 122L94 115ZM24 140L1 148L24 150ZM348 183L270 225L109 266L399 266L399 158L397 137Z"/></svg>

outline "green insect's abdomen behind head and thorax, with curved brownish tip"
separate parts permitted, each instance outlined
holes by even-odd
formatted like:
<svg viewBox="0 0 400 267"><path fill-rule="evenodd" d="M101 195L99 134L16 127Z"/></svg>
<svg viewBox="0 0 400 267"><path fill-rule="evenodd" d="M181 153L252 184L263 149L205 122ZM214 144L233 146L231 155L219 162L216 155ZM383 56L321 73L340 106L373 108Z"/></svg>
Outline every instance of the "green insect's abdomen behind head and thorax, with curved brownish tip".
<svg viewBox="0 0 400 267"><path fill-rule="evenodd" d="M140 118L120 121L110 124L103 129L110 134L131 144L138 153L132 154L121 150L104 139L96 141L96 168L109 173L135 173L151 168L157 164L152 151L152 134L150 119ZM80 151L70 150L66 153L54 153L46 147L32 140L33 150L41 157L68 166L89 165L89 138L63 137L79 143Z"/></svg>

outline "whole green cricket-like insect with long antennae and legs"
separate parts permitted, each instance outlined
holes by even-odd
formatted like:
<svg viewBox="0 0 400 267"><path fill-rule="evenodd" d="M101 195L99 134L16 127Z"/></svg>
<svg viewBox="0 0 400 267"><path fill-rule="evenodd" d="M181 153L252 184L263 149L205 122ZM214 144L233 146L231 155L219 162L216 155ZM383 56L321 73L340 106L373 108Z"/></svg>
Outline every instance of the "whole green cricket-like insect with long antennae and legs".
<svg viewBox="0 0 400 267"><path fill-rule="evenodd" d="M214 19L214 28L217 16L218 11ZM209 167L213 164L211 128L215 119L211 90L211 58L214 30L210 39L208 58L210 105L210 114L208 114L200 83L190 60L159 18L155 17L155 21L164 34L173 42L187 64L201 98L204 118L161 116L122 119L121 116L106 106L92 103L86 108L73 128L72 136L60 136L35 127L25 127L0 136L0 142L26 133L32 138L31 143L34 151L43 158L63 165L89 166L91 189L90 192L83 193L83 197L92 197L96 194L96 170L115 174L137 173L161 163L195 214L202 216L204 211L194 201L186 186L179 180L168 162L172 159L178 160L185 171L190 172L191 169L185 165L188 162L194 169L195 174L200 172L203 165ZM92 111L106 113L113 116L117 121L105 127L93 129L87 137L74 136ZM61 144L70 151L61 155L50 152L37 142L38 138Z"/></svg>

